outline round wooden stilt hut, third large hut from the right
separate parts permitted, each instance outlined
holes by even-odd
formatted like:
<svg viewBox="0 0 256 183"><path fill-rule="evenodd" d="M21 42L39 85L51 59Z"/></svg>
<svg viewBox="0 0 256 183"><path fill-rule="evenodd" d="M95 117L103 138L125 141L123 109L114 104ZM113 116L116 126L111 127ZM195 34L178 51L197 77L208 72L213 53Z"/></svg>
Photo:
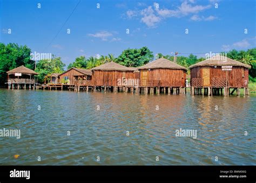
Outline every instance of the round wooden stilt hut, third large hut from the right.
<svg viewBox="0 0 256 183"><path fill-rule="evenodd" d="M92 68L92 81L95 89L109 89L111 91L133 91L138 83L137 68L125 67L116 62L107 62L106 64Z"/></svg>

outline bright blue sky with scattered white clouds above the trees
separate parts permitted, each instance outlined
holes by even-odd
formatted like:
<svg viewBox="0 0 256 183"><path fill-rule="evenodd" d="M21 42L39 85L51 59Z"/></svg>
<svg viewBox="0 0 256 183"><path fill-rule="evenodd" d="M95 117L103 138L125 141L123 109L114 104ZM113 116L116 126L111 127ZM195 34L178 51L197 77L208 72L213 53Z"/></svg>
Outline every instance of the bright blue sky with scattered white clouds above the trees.
<svg viewBox="0 0 256 183"><path fill-rule="evenodd" d="M78 2L0 0L0 41L55 54L67 65L80 55L118 57L126 48L142 46L154 55L187 56L256 45L254 0Z"/></svg>

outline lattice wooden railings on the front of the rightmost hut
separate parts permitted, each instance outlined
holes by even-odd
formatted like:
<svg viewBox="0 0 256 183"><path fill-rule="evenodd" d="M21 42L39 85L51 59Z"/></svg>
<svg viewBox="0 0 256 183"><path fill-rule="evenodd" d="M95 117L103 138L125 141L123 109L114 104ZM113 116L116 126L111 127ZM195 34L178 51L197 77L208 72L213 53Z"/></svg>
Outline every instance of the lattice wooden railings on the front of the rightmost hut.
<svg viewBox="0 0 256 183"><path fill-rule="evenodd" d="M192 87L203 87L204 79L203 78L192 78L191 79ZM211 78L211 87L221 88L226 87L226 79L225 78ZM228 83L227 83L228 86Z"/></svg>

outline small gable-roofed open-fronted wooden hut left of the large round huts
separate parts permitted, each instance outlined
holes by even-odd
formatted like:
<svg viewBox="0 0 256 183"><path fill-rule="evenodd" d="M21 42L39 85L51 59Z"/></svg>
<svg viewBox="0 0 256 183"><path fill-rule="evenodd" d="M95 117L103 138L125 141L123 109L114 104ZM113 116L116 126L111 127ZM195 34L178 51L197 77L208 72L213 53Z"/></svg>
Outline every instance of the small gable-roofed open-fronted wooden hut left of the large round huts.
<svg viewBox="0 0 256 183"><path fill-rule="evenodd" d="M68 71L59 74L59 82L63 85L75 86L78 81L91 80L92 72L88 69L72 67Z"/></svg>

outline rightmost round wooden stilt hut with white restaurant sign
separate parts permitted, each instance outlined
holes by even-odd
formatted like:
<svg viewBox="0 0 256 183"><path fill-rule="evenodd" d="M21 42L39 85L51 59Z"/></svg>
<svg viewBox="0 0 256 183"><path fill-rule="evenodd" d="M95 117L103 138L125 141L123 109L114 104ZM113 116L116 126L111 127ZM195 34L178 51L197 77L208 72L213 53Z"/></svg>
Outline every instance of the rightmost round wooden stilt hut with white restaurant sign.
<svg viewBox="0 0 256 183"><path fill-rule="evenodd" d="M191 95L222 95L233 94L244 88L248 90L248 69L251 66L239 61L216 55L189 67L191 69ZM223 92L224 89L224 92ZM233 89L230 91L230 89Z"/></svg>

